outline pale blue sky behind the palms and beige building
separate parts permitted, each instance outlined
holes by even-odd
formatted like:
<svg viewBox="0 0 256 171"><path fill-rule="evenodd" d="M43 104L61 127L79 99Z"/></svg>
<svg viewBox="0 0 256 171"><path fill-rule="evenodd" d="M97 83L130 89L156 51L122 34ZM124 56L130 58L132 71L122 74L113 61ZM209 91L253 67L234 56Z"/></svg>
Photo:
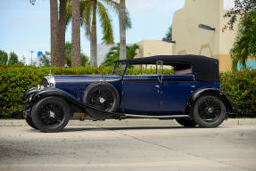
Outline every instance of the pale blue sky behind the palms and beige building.
<svg viewBox="0 0 256 171"><path fill-rule="evenodd" d="M161 3L160 3L161 2ZM182 8L185 0L126 0L132 28L127 31L127 43L134 44L144 39L161 40L172 23L175 11ZM234 0L224 0L224 8L234 6ZM119 42L119 20L111 12L113 36ZM97 27L98 43L102 40L102 30ZM36 59L38 51L50 51L50 0L37 0L35 5L29 0L0 0L0 50L17 53L29 62L31 53ZM71 27L66 30L66 42L71 41ZM90 43L81 28L81 50L90 54Z"/></svg>

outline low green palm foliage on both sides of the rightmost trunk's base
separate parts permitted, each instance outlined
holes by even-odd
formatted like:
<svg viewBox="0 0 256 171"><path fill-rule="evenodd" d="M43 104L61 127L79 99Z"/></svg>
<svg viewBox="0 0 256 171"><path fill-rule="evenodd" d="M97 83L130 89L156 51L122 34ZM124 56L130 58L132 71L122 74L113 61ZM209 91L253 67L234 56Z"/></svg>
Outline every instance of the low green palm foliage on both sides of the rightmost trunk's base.
<svg viewBox="0 0 256 171"><path fill-rule="evenodd" d="M132 59L136 56L136 49L138 49L139 46L134 45L127 45L126 46L126 56L127 59ZM103 66L113 66L114 61L118 61L120 59L120 44L111 47L111 50L109 53L106 54L105 60L103 61Z"/></svg>

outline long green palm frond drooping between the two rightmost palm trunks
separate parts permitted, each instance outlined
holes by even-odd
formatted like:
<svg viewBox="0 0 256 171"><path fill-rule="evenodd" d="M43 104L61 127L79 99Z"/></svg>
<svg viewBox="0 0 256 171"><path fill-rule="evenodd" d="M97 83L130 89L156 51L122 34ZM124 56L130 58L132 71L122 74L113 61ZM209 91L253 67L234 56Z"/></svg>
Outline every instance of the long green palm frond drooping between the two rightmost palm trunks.
<svg viewBox="0 0 256 171"><path fill-rule="evenodd" d="M111 19L107 12L107 9L103 6L101 2L97 3L97 11L99 13L101 26L103 28L103 42L108 44L113 44L113 30L111 25Z"/></svg>

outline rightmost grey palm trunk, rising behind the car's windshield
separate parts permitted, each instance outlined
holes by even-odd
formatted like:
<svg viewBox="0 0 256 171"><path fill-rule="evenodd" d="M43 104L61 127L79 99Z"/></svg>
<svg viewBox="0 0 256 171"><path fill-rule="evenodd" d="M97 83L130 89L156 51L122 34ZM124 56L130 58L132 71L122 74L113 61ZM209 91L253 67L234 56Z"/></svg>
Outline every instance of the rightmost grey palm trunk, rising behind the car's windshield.
<svg viewBox="0 0 256 171"><path fill-rule="evenodd" d="M131 21L128 17L128 11L126 10L126 1L120 0L120 60L127 59L126 53L126 29L131 28Z"/></svg>

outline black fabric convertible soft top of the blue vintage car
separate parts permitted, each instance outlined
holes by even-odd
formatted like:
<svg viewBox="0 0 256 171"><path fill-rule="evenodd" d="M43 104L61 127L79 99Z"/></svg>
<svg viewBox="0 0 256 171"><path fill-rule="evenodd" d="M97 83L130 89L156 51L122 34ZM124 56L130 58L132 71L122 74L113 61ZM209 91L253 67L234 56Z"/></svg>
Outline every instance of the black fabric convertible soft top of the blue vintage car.
<svg viewBox="0 0 256 171"><path fill-rule="evenodd" d="M219 82L219 60L201 55L157 55L145 58L120 60L116 62L129 64L156 64L162 61L165 65L172 65L175 70L189 69L196 81Z"/></svg>

